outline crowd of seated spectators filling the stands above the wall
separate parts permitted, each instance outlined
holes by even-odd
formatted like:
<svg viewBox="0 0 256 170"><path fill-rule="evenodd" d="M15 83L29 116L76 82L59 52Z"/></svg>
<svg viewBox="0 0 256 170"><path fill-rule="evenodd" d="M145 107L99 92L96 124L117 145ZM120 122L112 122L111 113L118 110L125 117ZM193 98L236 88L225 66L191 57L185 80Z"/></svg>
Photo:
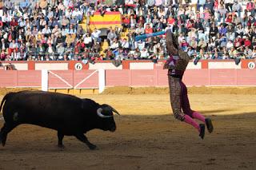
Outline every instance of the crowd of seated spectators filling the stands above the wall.
<svg viewBox="0 0 256 170"><path fill-rule="evenodd" d="M84 30L79 23L95 11L102 16L119 11L122 28L107 28L105 37L101 30ZM196 58L254 58L255 13L254 0L6 0L0 14L0 60L164 59L164 34L134 38L168 29ZM100 53L105 41L109 47Z"/></svg>

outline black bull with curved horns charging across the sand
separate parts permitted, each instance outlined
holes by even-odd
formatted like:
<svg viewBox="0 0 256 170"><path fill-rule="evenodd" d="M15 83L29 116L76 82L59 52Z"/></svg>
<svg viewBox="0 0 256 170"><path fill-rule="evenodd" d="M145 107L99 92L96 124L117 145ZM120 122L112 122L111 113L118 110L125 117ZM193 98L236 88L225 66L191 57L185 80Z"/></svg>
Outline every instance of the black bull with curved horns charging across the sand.
<svg viewBox="0 0 256 170"><path fill-rule="evenodd" d="M1 109L5 120L0 132L2 146L12 129L21 124L31 124L57 130L60 148L66 135L76 136L90 149L95 149L96 146L87 140L84 133L94 128L114 132L113 112L118 113L110 105L99 105L90 99L42 91L8 93L2 99Z"/></svg>

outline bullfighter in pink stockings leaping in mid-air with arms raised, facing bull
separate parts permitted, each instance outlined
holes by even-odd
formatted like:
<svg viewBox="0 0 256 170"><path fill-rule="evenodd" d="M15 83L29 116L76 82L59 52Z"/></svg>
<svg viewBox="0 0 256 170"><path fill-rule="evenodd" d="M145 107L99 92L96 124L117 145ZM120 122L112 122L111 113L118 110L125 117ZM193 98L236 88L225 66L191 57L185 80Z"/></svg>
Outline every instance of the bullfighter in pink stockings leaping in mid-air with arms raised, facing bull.
<svg viewBox="0 0 256 170"><path fill-rule="evenodd" d="M196 128L199 136L203 139L205 136L205 124L209 132L213 132L214 126L210 118L206 118L201 113L190 109L186 85L182 82L186 66L192 57L180 49L177 39L170 30L166 32L166 49L170 57L166 61L164 69L168 69L170 103L174 117ZM203 124L199 125L194 119L202 121Z"/></svg>

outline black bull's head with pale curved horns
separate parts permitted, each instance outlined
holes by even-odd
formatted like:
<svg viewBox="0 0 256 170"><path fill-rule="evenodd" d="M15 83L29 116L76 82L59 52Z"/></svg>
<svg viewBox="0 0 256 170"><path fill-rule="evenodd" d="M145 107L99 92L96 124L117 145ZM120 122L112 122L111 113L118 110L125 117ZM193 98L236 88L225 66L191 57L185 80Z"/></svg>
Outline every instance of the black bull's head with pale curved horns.
<svg viewBox="0 0 256 170"><path fill-rule="evenodd" d="M115 131L116 125L114 122L113 113L120 115L118 111L110 105L103 104L97 109L98 117L102 118L103 130L110 130L111 132Z"/></svg>

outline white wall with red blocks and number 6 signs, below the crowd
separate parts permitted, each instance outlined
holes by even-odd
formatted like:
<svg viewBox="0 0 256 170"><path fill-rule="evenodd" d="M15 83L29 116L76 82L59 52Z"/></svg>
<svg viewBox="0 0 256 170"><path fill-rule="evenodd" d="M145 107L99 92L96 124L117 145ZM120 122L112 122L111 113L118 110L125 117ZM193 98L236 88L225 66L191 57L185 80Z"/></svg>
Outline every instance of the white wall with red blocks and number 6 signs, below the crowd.
<svg viewBox="0 0 256 170"><path fill-rule="evenodd" d="M234 60L202 60L197 65L190 62L187 69L248 69L248 63L254 60L242 60L235 65ZM2 65L12 63L18 70L70 70L70 69L162 69L164 60L154 64L152 61L122 61L118 67L111 61L95 64L83 64L82 61L0 61Z"/></svg>

